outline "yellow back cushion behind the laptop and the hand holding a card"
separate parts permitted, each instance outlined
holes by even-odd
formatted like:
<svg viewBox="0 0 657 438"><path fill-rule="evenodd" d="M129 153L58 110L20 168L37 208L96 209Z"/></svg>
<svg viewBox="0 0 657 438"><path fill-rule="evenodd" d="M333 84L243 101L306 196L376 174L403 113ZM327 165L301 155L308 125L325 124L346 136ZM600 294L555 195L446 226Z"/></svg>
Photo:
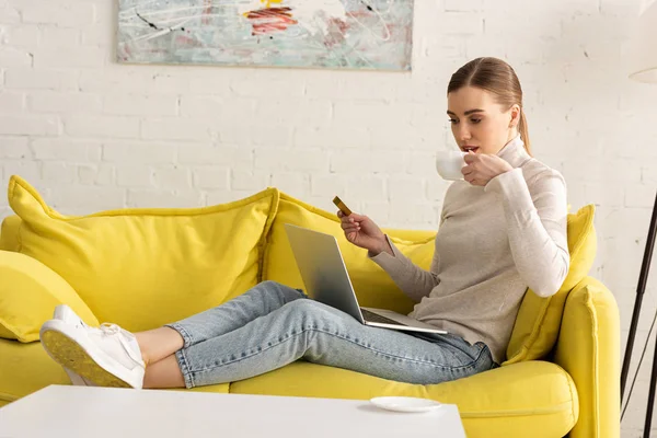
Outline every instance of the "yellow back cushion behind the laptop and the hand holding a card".
<svg viewBox="0 0 657 438"><path fill-rule="evenodd" d="M346 240L339 226L339 219L335 214L312 207L283 193L276 219L267 238L263 279L304 289L284 223L321 231L337 239L361 306L391 309L402 313L413 310L413 301L396 287L392 278L379 265L367 257L367 251ZM420 267L429 269L434 256L435 232L417 231L413 234L418 240L407 241L395 238L394 230L383 231L404 255Z"/></svg>

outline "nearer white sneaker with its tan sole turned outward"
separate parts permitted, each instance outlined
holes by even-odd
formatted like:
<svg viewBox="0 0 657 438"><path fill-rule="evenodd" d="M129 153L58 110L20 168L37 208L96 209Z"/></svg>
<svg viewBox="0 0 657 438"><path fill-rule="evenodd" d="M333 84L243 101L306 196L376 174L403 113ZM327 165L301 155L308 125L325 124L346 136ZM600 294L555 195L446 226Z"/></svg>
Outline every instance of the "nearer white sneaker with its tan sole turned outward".
<svg viewBox="0 0 657 438"><path fill-rule="evenodd" d="M48 355L83 379L101 387L142 388L146 366L139 344L118 325L105 323L96 328L53 319L39 333Z"/></svg>

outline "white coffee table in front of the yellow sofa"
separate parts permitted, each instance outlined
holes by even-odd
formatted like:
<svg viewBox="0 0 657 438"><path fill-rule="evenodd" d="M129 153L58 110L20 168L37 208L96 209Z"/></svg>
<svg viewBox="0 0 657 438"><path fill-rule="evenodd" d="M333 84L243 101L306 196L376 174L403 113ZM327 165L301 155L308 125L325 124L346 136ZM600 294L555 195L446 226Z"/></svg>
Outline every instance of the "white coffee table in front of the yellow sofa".
<svg viewBox="0 0 657 438"><path fill-rule="evenodd" d="M0 437L465 438L456 405L50 385L0 408Z"/></svg>

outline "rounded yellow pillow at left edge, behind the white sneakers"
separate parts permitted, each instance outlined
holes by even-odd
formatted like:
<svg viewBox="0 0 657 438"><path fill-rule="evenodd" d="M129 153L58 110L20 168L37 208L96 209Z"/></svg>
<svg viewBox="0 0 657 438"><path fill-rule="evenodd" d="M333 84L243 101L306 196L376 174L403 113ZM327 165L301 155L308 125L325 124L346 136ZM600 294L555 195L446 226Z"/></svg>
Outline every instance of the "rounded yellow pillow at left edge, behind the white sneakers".
<svg viewBox="0 0 657 438"><path fill-rule="evenodd" d="M38 331L58 304L68 304L90 325L99 325L68 283L43 263L0 251L0 337L38 341Z"/></svg>

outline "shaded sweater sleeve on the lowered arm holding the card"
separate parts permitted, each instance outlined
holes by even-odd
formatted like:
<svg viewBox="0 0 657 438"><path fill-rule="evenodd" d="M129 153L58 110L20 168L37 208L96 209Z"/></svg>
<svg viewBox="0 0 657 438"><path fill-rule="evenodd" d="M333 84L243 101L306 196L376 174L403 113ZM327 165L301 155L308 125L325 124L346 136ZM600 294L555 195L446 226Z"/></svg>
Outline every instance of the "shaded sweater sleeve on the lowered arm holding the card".
<svg viewBox="0 0 657 438"><path fill-rule="evenodd" d="M419 302L423 297L428 296L440 283L436 274L434 274L438 263L437 252L434 253L431 270L425 270L402 254L388 235L385 239L390 243L394 256L383 251L374 256L368 254L368 257L381 266L404 293L414 301Z"/></svg>

